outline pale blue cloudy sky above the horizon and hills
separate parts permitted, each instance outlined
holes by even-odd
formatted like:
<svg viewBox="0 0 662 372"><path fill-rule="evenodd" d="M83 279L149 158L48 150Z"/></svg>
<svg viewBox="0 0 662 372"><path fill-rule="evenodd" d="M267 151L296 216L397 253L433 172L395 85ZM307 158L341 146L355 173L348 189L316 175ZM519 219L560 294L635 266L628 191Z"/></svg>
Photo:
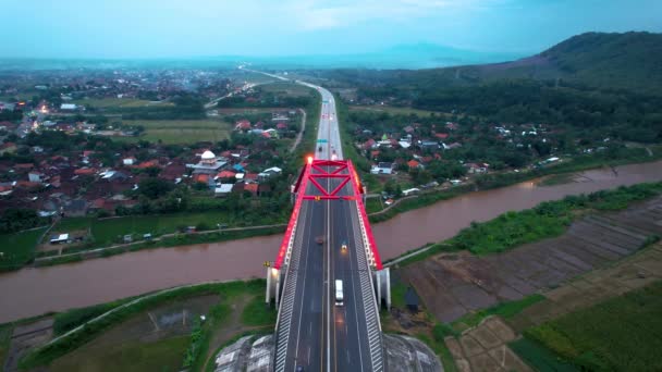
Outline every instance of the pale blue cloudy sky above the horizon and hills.
<svg viewBox="0 0 662 372"><path fill-rule="evenodd" d="M660 0L3 0L0 58L538 52L589 32L662 32Z"/></svg>

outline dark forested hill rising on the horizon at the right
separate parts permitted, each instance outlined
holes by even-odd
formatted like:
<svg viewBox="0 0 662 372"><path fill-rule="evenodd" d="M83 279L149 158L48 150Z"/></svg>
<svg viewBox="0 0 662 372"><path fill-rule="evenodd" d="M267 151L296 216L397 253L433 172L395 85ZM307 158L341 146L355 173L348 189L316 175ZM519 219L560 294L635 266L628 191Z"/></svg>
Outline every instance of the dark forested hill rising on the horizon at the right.
<svg viewBox="0 0 662 372"><path fill-rule="evenodd" d="M403 72L399 73L403 75ZM662 92L662 34L587 33L532 57L482 65L404 73L451 85L502 78L564 79L599 87Z"/></svg>

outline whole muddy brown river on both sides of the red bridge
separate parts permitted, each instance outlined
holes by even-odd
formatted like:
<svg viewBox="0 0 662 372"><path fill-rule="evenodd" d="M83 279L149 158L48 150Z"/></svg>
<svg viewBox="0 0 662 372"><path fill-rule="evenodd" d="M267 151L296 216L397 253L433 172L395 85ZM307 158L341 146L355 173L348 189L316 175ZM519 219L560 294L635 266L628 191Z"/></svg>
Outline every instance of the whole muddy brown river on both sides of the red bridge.
<svg viewBox="0 0 662 372"><path fill-rule="evenodd" d="M513 186L470 193L400 214L372 226L382 260L455 235L471 221L531 208L544 200L621 185L662 181L662 162L577 173L575 182ZM263 276L281 235L179 248L142 250L109 258L0 274L0 323L48 311L89 306L182 284Z"/></svg>

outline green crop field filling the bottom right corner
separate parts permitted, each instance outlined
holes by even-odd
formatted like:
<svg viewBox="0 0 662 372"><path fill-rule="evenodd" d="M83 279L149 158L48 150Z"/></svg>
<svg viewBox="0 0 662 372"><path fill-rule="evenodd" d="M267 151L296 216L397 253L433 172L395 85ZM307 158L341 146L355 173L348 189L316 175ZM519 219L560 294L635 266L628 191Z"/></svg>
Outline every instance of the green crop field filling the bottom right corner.
<svg viewBox="0 0 662 372"><path fill-rule="evenodd" d="M662 281L525 331L584 370L659 371Z"/></svg>

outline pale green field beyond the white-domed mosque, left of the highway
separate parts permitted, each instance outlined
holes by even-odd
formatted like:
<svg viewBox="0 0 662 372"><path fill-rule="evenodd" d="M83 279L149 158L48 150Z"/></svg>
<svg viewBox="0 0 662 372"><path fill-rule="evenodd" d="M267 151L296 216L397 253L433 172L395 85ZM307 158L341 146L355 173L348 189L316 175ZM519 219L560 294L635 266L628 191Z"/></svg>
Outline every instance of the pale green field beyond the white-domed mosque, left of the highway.
<svg viewBox="0 0 662 372"><path fill-rule="evenodd" d="M140 139L163 144L193 144L220 141L230 138L232 124L221 120L125 120L124 125L142 125L145 133L139 137L118 137L121 140Z"/></svg>

